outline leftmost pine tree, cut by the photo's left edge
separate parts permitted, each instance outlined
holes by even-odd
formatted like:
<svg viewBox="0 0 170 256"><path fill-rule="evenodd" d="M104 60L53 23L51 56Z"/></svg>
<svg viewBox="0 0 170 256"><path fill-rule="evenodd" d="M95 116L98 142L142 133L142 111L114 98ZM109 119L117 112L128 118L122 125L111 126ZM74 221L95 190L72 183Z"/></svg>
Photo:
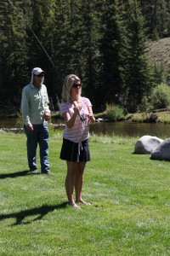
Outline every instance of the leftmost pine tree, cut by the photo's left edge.
<svg viewBox="0 0 170 256"><path fill-rule="evenodd" d="M15 1L15 8L1 1L1 56L0 72L3 74L4 97L13 102L20 95L26 82L28 52L26 47L26 25L22 21L22 1Z"/></svg>

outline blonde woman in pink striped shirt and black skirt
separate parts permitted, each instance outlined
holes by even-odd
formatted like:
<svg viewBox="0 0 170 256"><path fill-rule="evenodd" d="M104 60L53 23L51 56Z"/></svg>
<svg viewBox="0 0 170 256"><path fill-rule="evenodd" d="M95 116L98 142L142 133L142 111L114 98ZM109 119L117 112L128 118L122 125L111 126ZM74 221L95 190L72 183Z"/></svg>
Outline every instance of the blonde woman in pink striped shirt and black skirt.
<svg viewBox="0 0 170 256"><path fill-rule="evenodd" d="M95 118L91 102L88 98L82 97L81 93L80 79L74 74L68 75L63 84L63 101L60 104L60 111L65 119L60 159L66 160L66 195L69 205L75 208L80 208L77 203L91 205L82 200L82 175L86 162L90 160L89 123L94 124ZM74 189L76 201L73 199Z"/></svg>

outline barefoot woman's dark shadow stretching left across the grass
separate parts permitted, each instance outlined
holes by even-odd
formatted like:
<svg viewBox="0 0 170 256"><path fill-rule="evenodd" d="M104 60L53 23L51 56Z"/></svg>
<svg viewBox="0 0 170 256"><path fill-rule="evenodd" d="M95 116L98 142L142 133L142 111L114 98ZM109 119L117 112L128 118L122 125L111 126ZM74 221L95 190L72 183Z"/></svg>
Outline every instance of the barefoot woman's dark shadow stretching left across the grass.
<svg viewBox="0 0 170 256"><path fill-rule="evenodd" d="M48 214L48 212L53 212L56 209L65 208L66 205L67 205L67 202L64 202L60 205L55 205L55 206L44 205L42 207L33 208L31 210L9 213L9 214L2 214L2 215L0 215L0 220L6 219L6 218L16 218L16 222L12 225L31 224L33 221L42 219L43 216ZM39 216L37 218L33 218L31 221L23 222L23 220L26 217L34 216L34 215L39 215Z"/></svg>

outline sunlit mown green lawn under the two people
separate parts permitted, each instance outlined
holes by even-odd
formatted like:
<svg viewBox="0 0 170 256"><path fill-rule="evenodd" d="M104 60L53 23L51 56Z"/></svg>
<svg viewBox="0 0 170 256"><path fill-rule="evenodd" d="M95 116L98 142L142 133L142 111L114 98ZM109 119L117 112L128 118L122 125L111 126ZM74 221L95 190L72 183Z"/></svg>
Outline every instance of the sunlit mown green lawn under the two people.
<svg viewBox="0 0 170 256"><path fill-rule="evenodd" d="M54 175L33 176L25 135L0 133L0 255L170 255L170 163L132 154L138 138L91 136L93 205L79 211L66 205L62 134L50 134Z"/></svg>

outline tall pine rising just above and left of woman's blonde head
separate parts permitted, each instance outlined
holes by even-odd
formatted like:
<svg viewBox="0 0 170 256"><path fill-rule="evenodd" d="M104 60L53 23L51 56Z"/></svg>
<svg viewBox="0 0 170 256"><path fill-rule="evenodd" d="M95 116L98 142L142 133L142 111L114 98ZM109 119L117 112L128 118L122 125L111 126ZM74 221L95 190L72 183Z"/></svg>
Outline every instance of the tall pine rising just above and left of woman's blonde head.
<svg viewBox="0 0 170 256"><path fill-rule="evenodd" d="M55 93L60 97L62 84L65 76L69 73L76 73L72 58L77 55L74 52L74 43L77 42L77 35L73 33L72 19L77 12L77 3L74 1L58 1L54 6L54 25L51 29L53 33L54 63L55 63Z"/></svg>

